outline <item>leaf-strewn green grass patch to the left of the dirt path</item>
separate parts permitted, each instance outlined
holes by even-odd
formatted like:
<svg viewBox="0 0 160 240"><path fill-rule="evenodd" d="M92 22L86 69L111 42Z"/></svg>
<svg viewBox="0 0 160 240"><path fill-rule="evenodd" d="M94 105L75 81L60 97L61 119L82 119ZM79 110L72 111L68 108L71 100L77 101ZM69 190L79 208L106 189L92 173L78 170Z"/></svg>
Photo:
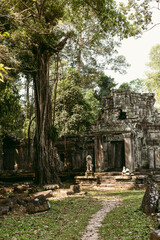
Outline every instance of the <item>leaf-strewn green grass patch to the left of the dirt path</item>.
<svg viewBox="0 0 160 240"><path fill-rule="evenodd" d="M78 240L90 216L100 208L100 202L90 197L51 202L48 212L0 219L0 239Z"/></svg>

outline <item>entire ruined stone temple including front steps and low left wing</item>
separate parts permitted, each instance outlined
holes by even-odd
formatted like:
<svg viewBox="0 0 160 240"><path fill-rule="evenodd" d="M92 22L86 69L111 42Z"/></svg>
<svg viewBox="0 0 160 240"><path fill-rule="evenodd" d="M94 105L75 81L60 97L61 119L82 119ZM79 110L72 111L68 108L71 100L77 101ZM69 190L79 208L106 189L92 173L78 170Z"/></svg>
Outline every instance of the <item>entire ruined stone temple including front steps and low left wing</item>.
<svg viewBox="0 0 160 240"><path fill-rule="evenodd" d="M131 179L132 183L143 183L147 174L160 176L160 114L154 103L152 93L122 90L103 98L102 114L84 137L66 136L56 143L62 171L84 176L90 155L93 182L111 172L119 172L117 181ZM128 176L122 175L123 167L129 169ZM83 183L82 177L76 177L76 182Z"/></svg>

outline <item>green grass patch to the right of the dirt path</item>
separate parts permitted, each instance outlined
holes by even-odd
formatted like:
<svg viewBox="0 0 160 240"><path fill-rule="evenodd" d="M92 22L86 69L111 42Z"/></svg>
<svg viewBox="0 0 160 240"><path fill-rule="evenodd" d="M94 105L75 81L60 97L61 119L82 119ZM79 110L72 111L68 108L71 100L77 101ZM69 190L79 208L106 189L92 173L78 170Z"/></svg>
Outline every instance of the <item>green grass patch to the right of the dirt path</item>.
<svg viewBox="0 0 160 240"><path fill-rule="evenodd" d="M104 197L104 194L120 197L123 202L105 217L99 229L100 239L148 240L157 223L155 216L146 216L140 209L144 191L99 192L98 195Z"/></svg>

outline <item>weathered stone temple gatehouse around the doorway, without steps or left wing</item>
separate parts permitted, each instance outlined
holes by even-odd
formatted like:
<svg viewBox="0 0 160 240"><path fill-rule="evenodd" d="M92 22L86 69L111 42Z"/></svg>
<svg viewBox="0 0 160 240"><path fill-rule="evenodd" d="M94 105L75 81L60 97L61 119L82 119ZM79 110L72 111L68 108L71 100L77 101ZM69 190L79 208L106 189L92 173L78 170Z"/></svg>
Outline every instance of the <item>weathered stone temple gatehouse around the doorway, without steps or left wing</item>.
<svg viewBox="0 0 160 240"><path fill-rule="evenodd" d="M160 169L160 114L154 94L114 91L92 125L95 170Z"/></svg>

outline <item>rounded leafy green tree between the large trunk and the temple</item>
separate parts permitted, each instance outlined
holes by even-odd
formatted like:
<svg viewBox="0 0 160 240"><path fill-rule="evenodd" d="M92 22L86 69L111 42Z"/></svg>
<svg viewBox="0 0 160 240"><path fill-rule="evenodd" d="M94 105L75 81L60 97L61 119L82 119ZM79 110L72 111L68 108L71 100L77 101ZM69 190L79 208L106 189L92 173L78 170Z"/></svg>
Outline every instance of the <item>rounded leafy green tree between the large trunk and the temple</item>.
<svg viewBox="0 0 160 240"><path fill-rule="evenodd" d="M60 136L83 135L97 116L98 101L94 98L93 91L82 91L80 79L80 74L70 69L66 79L58 84L55 126Z"/></svg>

